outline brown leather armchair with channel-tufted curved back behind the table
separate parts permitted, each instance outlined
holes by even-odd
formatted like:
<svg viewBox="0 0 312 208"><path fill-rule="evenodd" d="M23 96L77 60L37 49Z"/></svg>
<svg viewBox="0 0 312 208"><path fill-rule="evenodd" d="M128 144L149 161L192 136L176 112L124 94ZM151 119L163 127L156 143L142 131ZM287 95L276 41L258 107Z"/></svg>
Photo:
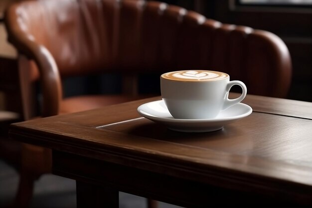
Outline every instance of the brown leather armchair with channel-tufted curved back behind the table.
<svg viewBox="0 0 312 208"><path fill-rule="evenodd" d="M33 117L29 86L38 79L42 116L138 98L63 99L61 80L72 75L208 69L244 81L250 94L274 97L286 97L291 83L290 54L278 36L161 2L23 1L9 7L5 24L19 53L25 119Z"/></svg>

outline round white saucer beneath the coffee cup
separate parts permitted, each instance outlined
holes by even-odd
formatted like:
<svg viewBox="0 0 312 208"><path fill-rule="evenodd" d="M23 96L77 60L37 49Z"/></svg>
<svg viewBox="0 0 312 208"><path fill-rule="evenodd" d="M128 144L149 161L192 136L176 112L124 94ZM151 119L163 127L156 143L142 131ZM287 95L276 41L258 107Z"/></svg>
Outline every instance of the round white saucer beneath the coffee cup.
<svg viewBox="0 0 312 208"><path fill-rule="evenodd" d="M168 129L180 132L211 132L223 128L252 113L252 108L238 103L221 111L213 119L174 119L162 100L145 103L138 107L141 116L165 125Z"/></svg>

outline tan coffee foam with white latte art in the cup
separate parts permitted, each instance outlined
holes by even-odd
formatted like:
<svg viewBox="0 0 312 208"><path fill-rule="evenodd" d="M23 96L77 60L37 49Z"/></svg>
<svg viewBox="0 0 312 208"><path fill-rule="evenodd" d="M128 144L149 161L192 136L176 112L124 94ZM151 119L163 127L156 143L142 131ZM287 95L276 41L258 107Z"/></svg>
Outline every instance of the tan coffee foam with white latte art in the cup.
<svg viewBox="0 0 312 208"><path fill-rule="evenodd" d="M225 79L228 76L223 72L206 70L172 71L161 75L162 78L178 81L214 81Z"/></svg>

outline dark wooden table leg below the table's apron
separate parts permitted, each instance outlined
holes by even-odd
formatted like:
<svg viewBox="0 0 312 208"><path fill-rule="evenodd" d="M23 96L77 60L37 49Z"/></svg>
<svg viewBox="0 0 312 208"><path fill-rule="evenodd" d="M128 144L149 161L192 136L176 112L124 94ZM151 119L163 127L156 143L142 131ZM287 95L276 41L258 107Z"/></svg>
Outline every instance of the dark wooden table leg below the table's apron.
<svg viewBox="0 0 312 208"><path fill-rule="evenodd" d="M76 181L77 208L118 208L119 192L111 187Z"/></svg>

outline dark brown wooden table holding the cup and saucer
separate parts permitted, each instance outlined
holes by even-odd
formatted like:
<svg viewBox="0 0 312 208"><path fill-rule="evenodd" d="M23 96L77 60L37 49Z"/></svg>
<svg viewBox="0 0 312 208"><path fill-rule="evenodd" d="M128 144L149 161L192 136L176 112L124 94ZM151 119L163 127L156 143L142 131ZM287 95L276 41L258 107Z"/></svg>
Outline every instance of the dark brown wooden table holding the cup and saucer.
<svg viewBox="0 0 312 208"><path fill-rule="evenodd" d="M156 99L16 123L10 136L53 150L78 207L118 207L118 191L185 207L312 206L312 103L247 95L248 117L180 133L139 116Z"/></svg>

